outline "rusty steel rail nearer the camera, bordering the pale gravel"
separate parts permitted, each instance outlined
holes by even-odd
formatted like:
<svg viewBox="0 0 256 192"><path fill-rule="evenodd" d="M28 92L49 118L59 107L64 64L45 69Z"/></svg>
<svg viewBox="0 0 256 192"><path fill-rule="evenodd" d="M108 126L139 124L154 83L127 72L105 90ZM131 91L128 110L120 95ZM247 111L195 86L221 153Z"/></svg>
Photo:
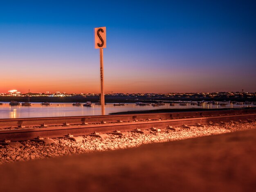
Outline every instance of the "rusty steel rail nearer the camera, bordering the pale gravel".
<svg viewBox="0 0 256 192"><path fill-rule="evenodd" d="M107 123L96 125L78 125L67 127L46 127L46 128L26 128L26 129L11 129L0 130L0 141L23 141L33 139L36 137L43 138L57 138L64 137L67 134L74 136L81 136L91 134L92 132L109 133L114 130L129 131L132 129L149 129L150 127L163 128L167 126L180 126L180 125L195 125L195 123L217 123L220 121L238 121L247 120L248 118L256 118L256 113L253 114L239 114L239 115L220 115L220 116L205 116L193 118L177 118L169 120L155 120L155 121L138 121L129 123Z"/></svg>

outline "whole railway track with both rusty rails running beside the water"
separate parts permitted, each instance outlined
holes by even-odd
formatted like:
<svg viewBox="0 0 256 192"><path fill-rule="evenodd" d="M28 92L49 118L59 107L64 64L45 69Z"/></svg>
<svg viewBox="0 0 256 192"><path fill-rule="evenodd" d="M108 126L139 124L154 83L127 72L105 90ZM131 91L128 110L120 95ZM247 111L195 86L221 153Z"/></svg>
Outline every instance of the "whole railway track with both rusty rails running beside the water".
<svg viewBox="0 0 256 192"><path fill-rule="evenodd" d="M256 109L229 109L221 111L172 112L155 114L128 114L106 116L74 116L53 118L0 119L0 141L81 136L93 132L112 133L133 129L163 128L167 126L218 123L256 118Z"/></svg>

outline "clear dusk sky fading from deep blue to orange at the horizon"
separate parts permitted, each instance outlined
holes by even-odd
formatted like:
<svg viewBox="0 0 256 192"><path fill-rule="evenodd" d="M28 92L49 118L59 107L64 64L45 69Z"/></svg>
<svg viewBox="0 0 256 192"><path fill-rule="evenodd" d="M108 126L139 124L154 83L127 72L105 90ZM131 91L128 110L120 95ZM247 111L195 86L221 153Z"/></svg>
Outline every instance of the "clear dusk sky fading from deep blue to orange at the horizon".
<svg viewBox="0 0 256 192"><path fill-rule="evenodd" d="M0 92L256 92L255 1L1 1Z"/></svg>

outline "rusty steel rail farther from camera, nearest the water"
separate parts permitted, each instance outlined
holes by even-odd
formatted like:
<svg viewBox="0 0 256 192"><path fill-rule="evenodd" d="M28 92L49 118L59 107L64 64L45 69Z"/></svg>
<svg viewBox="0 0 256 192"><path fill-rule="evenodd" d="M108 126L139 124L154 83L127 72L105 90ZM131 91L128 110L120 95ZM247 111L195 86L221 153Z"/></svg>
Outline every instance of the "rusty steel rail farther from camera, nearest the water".
<svg viewBox="0 0 256 192"><path fill-rule="evenodd" d="M69 116L69 117L42 117L42 118L5 118L0 119L1 127L15 126L40 126L61 125L63 123L100 123L115 121L134 121L146 119L172 119L172 118L189 118L203 116L217 116L227 114L249 114L256 113L256 109L229 109L220 111L197 111L197 112L168 112L168 113L148 113L148 114L124 114L124 115L98 115L98 116Z"/></svg>

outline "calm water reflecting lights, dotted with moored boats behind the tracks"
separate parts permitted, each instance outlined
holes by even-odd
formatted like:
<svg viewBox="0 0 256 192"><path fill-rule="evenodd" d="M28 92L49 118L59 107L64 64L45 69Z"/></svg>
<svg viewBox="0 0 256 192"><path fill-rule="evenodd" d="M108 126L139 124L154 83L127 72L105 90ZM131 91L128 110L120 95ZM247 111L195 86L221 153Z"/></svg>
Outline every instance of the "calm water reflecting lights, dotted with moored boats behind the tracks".
<svg viewBox="0 0 256 192"><path fill-rule="evenodd" d="M227 103L226 106L211 105L204 103L202 106L197 105L179 105L170 106L169 103L159 107L152 105L140 106L135 103L129 103L121 106L114 106L113 104L105 105L106 114L124 111L138 111L150 109L221 109L221 108L242 108L255 107L255 105L235 105ZM0 118L28 118L28 117L56 117L56 116L87 116L87 115L101 115L101 105L94 105L92 107L73 106L72 103L52 103L51 105L40 105L40 103L32 103L31 106L10 106L9 103L0 105Z"/></svg>

